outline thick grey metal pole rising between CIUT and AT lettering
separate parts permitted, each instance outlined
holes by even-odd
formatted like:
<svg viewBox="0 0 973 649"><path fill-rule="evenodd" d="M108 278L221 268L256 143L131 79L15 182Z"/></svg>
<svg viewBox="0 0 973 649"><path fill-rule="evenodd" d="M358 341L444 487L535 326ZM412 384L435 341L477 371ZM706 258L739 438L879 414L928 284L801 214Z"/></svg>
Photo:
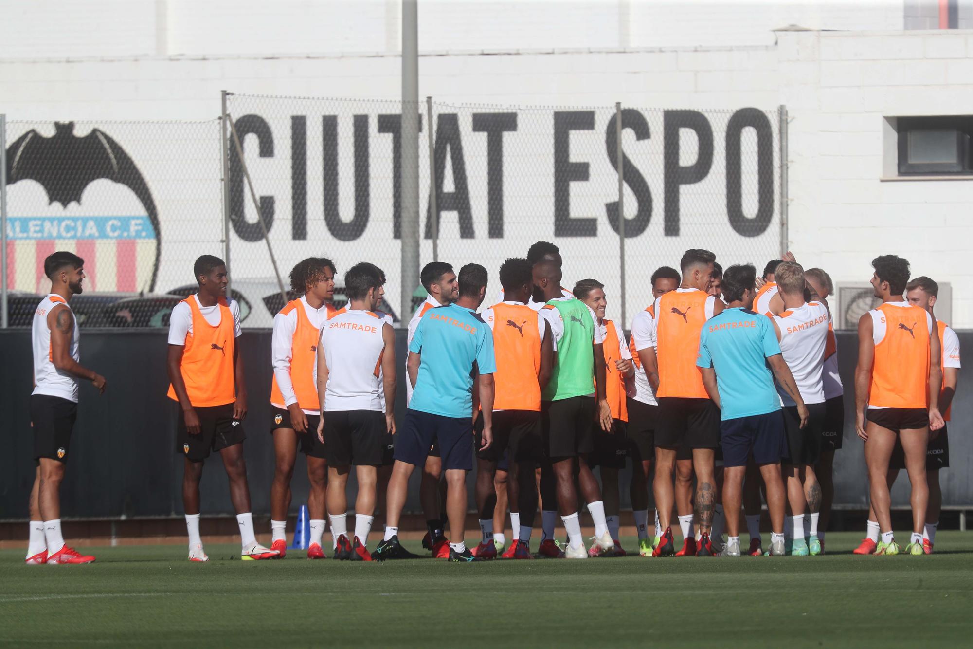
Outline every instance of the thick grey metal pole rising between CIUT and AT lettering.
<svg viewBox="0 0 973 649"><path fill-rule="evenodd" d="M402 320L419 285L419 53L417 0L402 0Z"/></svg>

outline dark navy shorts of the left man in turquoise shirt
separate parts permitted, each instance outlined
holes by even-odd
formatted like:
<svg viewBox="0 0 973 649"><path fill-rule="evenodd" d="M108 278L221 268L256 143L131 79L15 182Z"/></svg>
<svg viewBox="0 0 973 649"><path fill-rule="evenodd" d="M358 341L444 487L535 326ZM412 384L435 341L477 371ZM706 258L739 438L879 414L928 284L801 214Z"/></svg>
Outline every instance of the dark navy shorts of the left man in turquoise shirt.
<svg viewBox="0 0 973 649"><path fill-rule="evenodd" d="M433 441L439 442L445 471L473 469L473 419L446 417L409 408L402 429L395 434L395 459L416 467L425 465Z"/></svg>

